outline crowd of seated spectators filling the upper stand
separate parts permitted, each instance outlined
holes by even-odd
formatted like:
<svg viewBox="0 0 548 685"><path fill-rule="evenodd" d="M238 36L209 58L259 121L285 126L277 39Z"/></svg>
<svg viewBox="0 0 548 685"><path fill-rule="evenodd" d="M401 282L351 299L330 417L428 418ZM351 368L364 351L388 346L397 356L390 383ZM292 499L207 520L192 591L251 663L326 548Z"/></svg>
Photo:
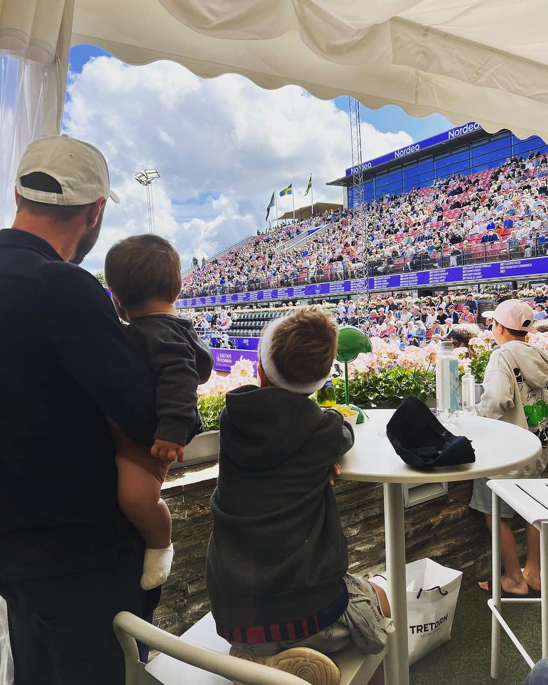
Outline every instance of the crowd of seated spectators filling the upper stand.
<svg viewBox="0 0 548 685"><path fill-rule="evenodd" d="M196 264L182 295L346 279L364 264L364 250L369 275L540 256L548 248L547 177L546 156L532 152L497 169L382 197L366 203L364 215L341 210L280 227ZM327 226L284 249L285 241L312 224Z"/></svg>

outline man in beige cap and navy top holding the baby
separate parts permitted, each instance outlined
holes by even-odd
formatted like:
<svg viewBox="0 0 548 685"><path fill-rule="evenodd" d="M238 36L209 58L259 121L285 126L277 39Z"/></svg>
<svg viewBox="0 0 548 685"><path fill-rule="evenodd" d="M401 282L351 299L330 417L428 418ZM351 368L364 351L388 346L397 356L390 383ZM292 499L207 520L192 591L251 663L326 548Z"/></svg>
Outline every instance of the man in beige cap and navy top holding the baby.
<svg viewBox="0 0 548 685"><path fill-rule="evenodd" d="M106 419L141 445L155 382L104 288L82 262L110 190L98 149L33 142L0 231L0 595L17 685L122 685L120 610L151 617L143 544L116 501ZM145 658L142 650L141 658Z"/></svg>

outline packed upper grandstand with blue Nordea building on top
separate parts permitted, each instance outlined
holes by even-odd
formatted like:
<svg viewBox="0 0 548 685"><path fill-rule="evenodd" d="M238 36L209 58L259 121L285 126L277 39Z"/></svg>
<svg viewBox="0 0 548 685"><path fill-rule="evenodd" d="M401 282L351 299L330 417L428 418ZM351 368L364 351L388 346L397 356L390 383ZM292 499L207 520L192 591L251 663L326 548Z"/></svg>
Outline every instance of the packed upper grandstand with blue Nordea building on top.
<svg viewBox="0 0 548 685"><path fill-rule="evenodd" d="M362 164L331 182L345 206L240 243L184 277L180 307L439 288L548 273L548 146L477 124ZM414 171L411 171L414 169ZM388 182L390 179L390 182ZM364 254L366 251L366 256Z"/></svg>

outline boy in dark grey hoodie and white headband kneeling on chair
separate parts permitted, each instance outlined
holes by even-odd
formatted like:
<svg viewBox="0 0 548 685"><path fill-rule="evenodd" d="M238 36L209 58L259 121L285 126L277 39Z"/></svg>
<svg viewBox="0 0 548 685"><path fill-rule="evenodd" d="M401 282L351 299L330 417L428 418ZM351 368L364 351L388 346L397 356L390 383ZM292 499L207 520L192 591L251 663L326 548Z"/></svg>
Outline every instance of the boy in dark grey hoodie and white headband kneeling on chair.
<svg viewBox="0 0 548 685"><path fill-rule="evenodd" d="M305 669L314 685L338 682L325 653L356 643L377 654L393 630L381 588L347 573L329 479L353 445L351 426L308 399L330 376L337 339L334 319L317 307L266 326L260 388L227 393L211 498L207 584L217 632L236 656L295 675ZM382 682L382 669L375 677Z"/></svg>

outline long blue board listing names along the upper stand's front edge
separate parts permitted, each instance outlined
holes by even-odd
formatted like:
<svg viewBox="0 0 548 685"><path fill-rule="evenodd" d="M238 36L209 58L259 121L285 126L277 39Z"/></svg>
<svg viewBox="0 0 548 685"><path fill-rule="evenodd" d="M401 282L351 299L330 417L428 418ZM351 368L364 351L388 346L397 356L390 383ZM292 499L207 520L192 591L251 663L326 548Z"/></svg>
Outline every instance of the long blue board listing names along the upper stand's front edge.
<svg viewBox="0 0 548 685"><path fill-rule="evenodd" d="M528 278L548 273L548 257L516 259L508 262L490 262L489 264L466 264L466 266L449 266L447 269L431 271L408 271L386 276L375 276L369 279L369 290L406 290L423 286L443 286L447 283L479 282L497 278ZM316 283L310 286L292 288L273 288L255 292L238 292L234 295L213 295L212 297L189 297L179 299L175 306L211 307L219 305L237 305L252 302L264 302L276 299L298 300L299 297L319 297L321 295L340 295L344 297L351 292L364 289L363 280L351 279L334 283Z"/></svg>

